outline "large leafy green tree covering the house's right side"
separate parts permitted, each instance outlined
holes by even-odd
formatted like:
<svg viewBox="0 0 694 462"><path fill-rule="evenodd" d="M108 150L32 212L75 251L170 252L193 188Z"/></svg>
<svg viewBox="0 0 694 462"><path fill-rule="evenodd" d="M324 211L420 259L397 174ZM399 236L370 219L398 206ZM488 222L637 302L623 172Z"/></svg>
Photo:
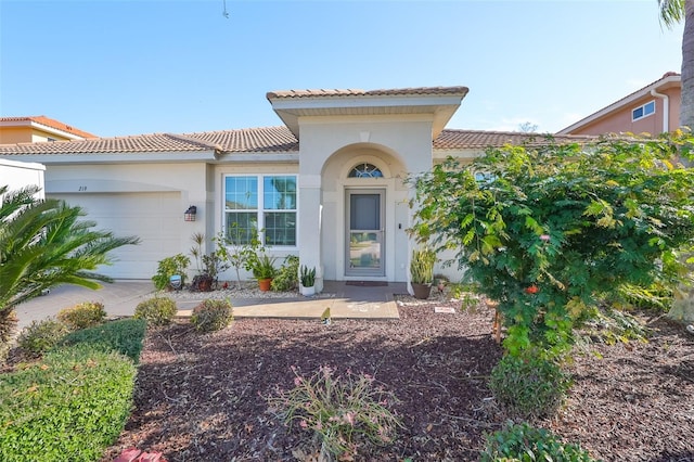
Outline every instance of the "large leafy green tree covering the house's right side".
<svg viewBox="0 0 694 462"><path fill-rule="evenodd" d="M499 301L505 347L562 352L588 307L622 284L668 286L689 277L694 171L676 164L694 141L603 139L490 149L412 178L411 232L457 251L460 268Z"/></svg>

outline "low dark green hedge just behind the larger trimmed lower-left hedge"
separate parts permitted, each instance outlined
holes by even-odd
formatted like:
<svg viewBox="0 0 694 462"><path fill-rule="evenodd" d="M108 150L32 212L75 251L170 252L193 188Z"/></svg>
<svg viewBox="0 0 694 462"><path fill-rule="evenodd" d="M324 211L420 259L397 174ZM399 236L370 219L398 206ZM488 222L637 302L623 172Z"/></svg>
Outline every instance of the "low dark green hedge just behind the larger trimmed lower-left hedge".
<svg viewBox="0 0 694 462"><path fill-rule="evenodd" d="M89 345L99 351L115 351L130 358L134 363L140 361L142 341L146 322L141 319L121 319L106 322L95 328L82 329L68 334L62 346Z"/></svg>

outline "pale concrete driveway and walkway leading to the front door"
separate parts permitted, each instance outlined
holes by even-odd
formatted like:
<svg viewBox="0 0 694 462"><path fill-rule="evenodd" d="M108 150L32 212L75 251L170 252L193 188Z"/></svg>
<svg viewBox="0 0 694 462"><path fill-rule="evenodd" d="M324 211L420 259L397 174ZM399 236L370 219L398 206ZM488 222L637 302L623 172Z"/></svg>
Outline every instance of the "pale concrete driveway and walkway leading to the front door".
<svg viewBox="0 0 694 462"><path fill-rule="evenodd" d="M156 291L151 281L119 280L104 284L99 291L74 285L52 288L47 295L34 298L15 308L20 319L18 329L52 316L63 308L82 301L100 301L113 317L132 316L142 300L151 298ZM354 286L340 281L326 281L324 294L331 297L296 298L232 298L236 318L316 318L320 319L325 308L333 318L349 319L398 319L394 294L407 293L404 283L388 283L386 286ZM177 299L180 316L190 316L200 299Z"/></svg>

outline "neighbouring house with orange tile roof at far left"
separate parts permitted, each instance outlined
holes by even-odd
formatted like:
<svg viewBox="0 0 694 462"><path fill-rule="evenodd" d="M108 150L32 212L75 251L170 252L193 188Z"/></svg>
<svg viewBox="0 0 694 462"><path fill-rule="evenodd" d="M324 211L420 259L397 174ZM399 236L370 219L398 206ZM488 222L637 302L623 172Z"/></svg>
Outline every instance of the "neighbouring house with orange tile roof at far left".
<svg viewBox="0 0 694 462"><path fill-rule="evenodd" d="M85 140L88 138L97 137L46 116L0 117L0 144Z"/></svg>

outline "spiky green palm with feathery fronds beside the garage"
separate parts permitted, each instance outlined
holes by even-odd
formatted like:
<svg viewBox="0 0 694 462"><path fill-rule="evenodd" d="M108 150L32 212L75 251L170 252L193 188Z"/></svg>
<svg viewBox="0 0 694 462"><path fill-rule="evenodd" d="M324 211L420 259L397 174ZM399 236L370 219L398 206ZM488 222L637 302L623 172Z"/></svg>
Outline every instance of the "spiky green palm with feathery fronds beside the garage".
<svg viewBox="0 0 694 462"><path fill-rule="evenodd" d="M93 270L112 262L108 252L139 242L93 230L80 207L38 200L38 191L0 187L0 324L14 306L55 285L101 287L98 281L111 279Z"/></svg>

